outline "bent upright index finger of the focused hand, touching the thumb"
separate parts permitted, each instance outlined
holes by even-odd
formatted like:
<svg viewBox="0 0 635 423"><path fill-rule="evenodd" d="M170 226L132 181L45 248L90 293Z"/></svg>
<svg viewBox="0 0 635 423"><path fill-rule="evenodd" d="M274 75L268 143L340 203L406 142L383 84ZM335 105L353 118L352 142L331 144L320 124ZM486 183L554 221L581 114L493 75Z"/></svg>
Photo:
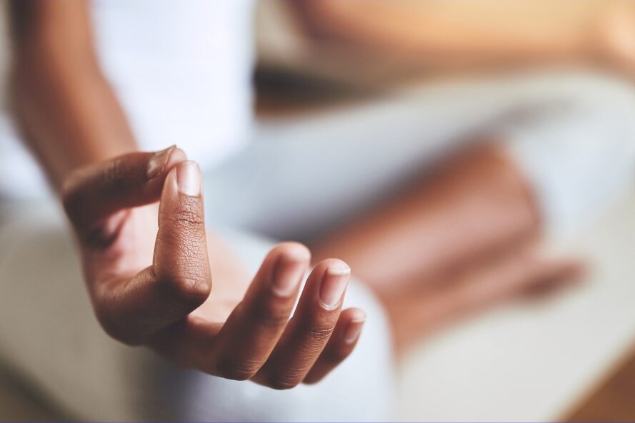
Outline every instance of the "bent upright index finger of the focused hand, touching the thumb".
<svg viewBox="0 0 635 423"><path fill-rule="evenodd" d="M211 290L201 172L193 161L165 178L152 265L102 297L100 321L124 342L145 342L186 317Z"/></svg>

